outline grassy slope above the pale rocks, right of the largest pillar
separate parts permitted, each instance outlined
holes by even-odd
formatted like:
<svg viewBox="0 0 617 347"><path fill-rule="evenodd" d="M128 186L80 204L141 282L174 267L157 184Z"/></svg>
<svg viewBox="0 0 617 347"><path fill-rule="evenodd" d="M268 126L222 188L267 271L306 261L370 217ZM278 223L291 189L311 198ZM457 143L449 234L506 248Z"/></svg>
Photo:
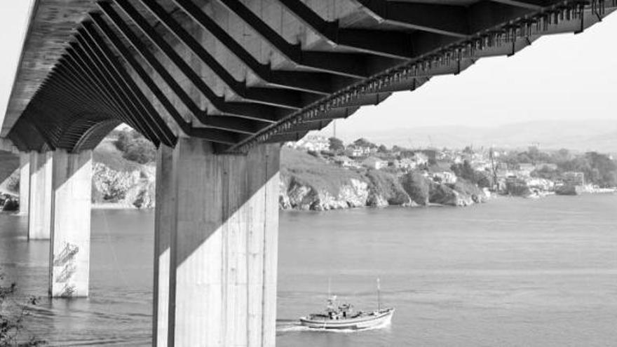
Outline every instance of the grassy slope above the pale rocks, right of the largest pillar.
<svg viewBox="0 0 617 347"><path fill-rule="evenodd" d="M339 188L348 184L352 178L365 180L358 172L339 168L321 158L288 147L283 147L280 153L280 173L286 184L294 179L315 189L326 189L333 195L337 195Z"/></svg>

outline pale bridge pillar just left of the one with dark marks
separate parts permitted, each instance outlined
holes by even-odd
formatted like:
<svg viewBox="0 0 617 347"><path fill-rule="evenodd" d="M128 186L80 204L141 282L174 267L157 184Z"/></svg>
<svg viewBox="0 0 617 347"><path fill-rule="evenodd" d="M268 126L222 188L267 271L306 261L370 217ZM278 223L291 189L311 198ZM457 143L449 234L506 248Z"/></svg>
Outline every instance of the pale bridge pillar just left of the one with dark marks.
<svg viewBox="0 0 617 347"><path fill-rule="evenodd" d="M51 152L31 151L28 240L49 240L51 232Z"/></svg>

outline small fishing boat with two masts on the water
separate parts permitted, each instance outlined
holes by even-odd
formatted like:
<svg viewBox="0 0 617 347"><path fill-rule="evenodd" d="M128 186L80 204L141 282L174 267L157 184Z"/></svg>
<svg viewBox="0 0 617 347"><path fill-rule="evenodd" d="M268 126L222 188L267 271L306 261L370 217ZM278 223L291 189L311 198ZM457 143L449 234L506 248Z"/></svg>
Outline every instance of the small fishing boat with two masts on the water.
<svg viewBox="0 0 617 347"><path fill-rule="evenodd" d="M330 285L328 285L330 287ZM330 292L330 290L328 290ZM388 325L394 308L381 308L379 279L377 280L377 310L354 311L351 304L339 306L337 296L329 295L323 313L312 313L300 318L300 324L314 329L367 329Z"/></svg>

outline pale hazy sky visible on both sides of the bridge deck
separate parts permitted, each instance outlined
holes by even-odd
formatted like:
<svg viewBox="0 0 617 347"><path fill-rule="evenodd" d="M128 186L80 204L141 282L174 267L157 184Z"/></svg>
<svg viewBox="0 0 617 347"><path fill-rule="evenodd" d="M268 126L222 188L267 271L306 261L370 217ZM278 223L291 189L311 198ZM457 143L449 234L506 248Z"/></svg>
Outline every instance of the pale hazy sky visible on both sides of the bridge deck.
<svg viewBox="0 0 617 347"><path fill-rule="evenodd" d="M30 2L0 0L3 112ZM413 93L396 93L377 107L363 107L338 121L337 130L341 135L370 137L376 130L434 125L585 118L617 123L616 33L617 14L613 14L583 34L545 36L513 57L484 58L459 76L435 77Z"/></svg>

